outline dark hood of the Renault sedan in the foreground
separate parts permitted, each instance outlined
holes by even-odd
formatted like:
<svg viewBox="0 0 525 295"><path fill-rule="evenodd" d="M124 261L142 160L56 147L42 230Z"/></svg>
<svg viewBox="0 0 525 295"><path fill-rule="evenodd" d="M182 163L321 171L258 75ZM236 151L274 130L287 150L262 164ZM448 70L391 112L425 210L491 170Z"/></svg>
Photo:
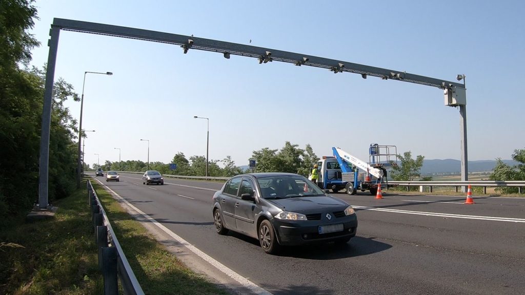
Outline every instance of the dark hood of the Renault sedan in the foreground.
<svg viewBox="0 0 525 295"><path fill-rule="evenodd" d="M290 212L303 212L311 209L325 209L346 207L348 204L332 196L295 197L287 199L271 199L269 202L283 210Z"/></svg>

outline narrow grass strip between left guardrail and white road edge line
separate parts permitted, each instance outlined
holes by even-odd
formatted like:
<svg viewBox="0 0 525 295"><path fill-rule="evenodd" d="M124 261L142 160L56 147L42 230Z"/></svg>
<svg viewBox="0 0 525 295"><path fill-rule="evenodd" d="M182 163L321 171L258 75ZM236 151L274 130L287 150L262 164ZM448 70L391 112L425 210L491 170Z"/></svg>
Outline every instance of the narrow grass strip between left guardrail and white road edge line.
<svg viewBox="0 0 525 295"><path fill-rule="evenodd" d="M146 294L228 294L185 267L134 220L101 185L91 182L124 254Z"/></svg>

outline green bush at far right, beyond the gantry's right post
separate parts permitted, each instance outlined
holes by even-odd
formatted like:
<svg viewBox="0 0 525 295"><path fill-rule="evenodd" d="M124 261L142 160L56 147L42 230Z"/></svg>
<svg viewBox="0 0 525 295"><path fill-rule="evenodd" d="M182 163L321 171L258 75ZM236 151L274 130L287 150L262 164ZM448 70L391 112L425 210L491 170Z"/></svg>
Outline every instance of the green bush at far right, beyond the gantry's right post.
<svg viewBox="0 0 525 295"><path fill-rule="evenodd" d="M489 179L492 181L523 181L525 180L525 149L514 150L512 154L512 160L518 162L517 165L507 165L501 161L500 158L496 159L496 166ZM496 188L503 194L518 193L517 187L503 186Z"/></svg>

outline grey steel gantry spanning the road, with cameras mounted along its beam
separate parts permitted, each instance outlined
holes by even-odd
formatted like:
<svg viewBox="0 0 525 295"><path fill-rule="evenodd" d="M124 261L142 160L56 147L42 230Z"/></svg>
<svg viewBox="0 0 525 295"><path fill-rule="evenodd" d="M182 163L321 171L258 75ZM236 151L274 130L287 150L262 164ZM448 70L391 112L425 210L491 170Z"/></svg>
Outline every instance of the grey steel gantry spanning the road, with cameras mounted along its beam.
<svg viewBox="0 0 525 295"><path fill-rule="evenodd" d="M364 79L368 76L379 77L384 80L392 79L404 82L412 82L416 84L433 86L440 89L455 89L461 88L465 89L465 84L461 84L457 81L447 81L442 79L430 78L425 76L415 75L413 73L407 73L405 71L377 68L372 66L355 64L349 61L329 59L317 56L311 56L306 54L299 54L296 52L282 51L277 49L269 49L264 47L257 47L251 45L230 43L225 41L218 41L212 39L205 39L186 35L177 35L171 33L164 33L160 31L144 30L130 27L106 25L99 23L89 23L81 22L79 20L55 18L53 24L51 25L50 31L50 40L49 40L49 57L48 57L48 67L46 73L46 91L44 94L44 114L47 112L50 113L50 101L51 101L51 87L53 86L54 75L55 75L55 61L56 53L58 46L58 31L68 30L68 31L77 31L80 33L89 33L89 34L98 34L105 36L121 37L121 38L130 38L144 41L153 41L159 43L172 44L182 47L182 51L186 54L190 50L204 50L218 52L222 54L225 58L230 58L232 55L245 56L256 58L259 61L259 64L266 64L267 62L272 61L281 61L288 62L296 66L310 66L328 69L333 73L339 72L350 72L357 73L361 75ZM53 57L52 57L53 55ZM48 88L49 87L49 88ZM46 102L49 102L46 104ZM460 105L458 105L460 106ZM461 105L460 107L465 107ZM47 110L49 108L49 110ZM464 108L462 108L464 110ZM464 110L465 111L465 110ZM463 115L463 113L462 113ZM47 117L46 117L47 118ZM464 124L464 128L461 127L461 132L463 134L463 139L461 146L465 148L465 151L461 153L462 155L462 180L466 180L467 176L467 159L466 159L466 111L464 112L463 118L464 121L461 121L461 124ZM40 143L40 207L47 206L47 175L48 175L48 157L49 149L43 148L43 146L49 145L49 122L46 119L44 121L43 117L43 128L42 128L42 138ZM47 126L46 126L47 125ZM47 130L46 130L47 129ZM464 130L464 131L463 131ZM44 136L46 135L46 136ZM465 173L465 175L463 175ZM45 182L45 183L44 183ZM45 204L43 204L45 202Z"/></svg>

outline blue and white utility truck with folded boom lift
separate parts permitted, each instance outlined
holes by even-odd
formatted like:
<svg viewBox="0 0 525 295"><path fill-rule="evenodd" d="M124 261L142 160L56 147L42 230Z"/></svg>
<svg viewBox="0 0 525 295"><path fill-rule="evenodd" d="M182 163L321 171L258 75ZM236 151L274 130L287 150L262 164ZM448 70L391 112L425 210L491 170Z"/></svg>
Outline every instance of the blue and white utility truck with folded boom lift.
<svg viewBox="0 0 525 295"><path fill-rule="evenodd" d="M317 163L318 185L337 193L346 189L349 195L357 190L377 193L377 185L392 187L387 182L387 168L397 165L395 145L373 143L369 149L369 162L358 159L340 148L332 148L333 156L323 156Z"/></svg>

